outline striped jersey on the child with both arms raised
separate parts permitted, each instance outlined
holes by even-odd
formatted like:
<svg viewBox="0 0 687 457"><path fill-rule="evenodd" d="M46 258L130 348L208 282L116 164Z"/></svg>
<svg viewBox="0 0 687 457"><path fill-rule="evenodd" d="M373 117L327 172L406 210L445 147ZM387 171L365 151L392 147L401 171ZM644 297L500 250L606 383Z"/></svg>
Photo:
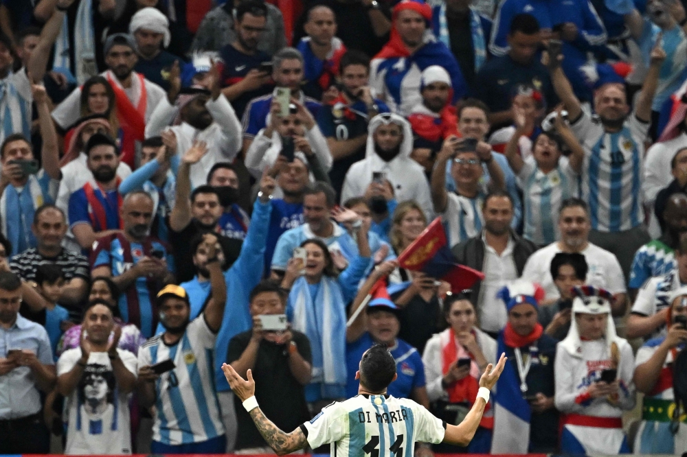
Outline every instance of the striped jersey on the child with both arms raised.
<svg viewBox="0 0 687 457"><path fill-rule="evenodd" d="M553 243L560 235L561 202L577 195L577 174L570 167L570 161L561 156L558 166L544 174L537 167L534 156L529 156L517 177L525 201L523 237L540 246Z"/></svg>

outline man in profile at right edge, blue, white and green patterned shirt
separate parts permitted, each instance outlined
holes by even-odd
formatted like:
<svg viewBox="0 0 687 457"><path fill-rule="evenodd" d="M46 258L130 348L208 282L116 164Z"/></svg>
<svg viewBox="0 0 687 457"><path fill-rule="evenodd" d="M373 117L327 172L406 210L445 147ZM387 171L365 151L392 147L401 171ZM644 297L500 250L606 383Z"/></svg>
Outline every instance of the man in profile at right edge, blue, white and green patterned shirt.
<svg viewBox="0 0 687 457"><path fill-rule="evenodd" d="M647 279L661 276L675 268L673 251L677 248L682 233L687 231L687 194L680 192L668 197L662 219L665 224L663 235L639 248L632 261L628 287L633 297Z"/></svg>

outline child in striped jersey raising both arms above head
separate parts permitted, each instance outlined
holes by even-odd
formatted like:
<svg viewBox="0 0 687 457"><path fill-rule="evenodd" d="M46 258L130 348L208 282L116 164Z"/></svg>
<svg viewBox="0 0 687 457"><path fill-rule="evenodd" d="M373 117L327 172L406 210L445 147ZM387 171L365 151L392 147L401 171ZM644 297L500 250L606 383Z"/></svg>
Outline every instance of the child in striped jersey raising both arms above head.
<svg viewBox="0 0 687 457"><path fill-rule="evenodd" d="M576 195L577 174L581 171L585 152L559 110L555 131L540 132L534 139L532 155L521 156L519 139L526 134L530 124L524 110L517 106L513 109L515 133L506 146L506 159L523 191L523 237L545 246L559 239L559 208L563 200ZM570 150L570 156L561 156L563 143Z"/></svg>

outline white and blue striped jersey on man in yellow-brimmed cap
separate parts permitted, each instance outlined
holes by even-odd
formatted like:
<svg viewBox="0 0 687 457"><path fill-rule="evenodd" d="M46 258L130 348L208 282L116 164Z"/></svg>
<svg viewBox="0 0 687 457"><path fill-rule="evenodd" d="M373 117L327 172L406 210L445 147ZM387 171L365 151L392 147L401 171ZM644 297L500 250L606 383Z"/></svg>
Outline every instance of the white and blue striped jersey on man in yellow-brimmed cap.
<svg viewBox="0 0 687 457"><path fill-rule="evenodd" d="M216 338L201 314L186 327L177 344L168 346L158 335L139 350L139 366L168 359L176 365L155 382L154 441L175 446L201 443L225 433L214 386Z"/></svg>

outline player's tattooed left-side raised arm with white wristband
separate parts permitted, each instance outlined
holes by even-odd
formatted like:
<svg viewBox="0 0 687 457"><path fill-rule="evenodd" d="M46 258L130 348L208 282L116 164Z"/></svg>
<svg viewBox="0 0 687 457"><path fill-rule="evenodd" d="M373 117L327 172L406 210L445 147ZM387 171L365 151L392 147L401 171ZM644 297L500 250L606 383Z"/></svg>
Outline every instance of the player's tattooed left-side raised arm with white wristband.
<svg viewBox="0 0 687 457"><path fill-rule="evenodd" d="M222 371L224 371L227 382L229 382L229 387L232 388L236 397L241 400L243 407L246 408L251 419L255 422L256 427L260 430L262 438L264 438L264 441L267 441L269 447L271 447L278 456L290 454L308 445L308 440L300 428L293 430L291 433L286 433L262 414L255 397L256 383L253 380L253 373L251 373L251 370L247 371L248 380L240 377L231 365L223 364ZM484 407L482 410L484 410ZM474 433L473 431L473 434Z"/></svg>

